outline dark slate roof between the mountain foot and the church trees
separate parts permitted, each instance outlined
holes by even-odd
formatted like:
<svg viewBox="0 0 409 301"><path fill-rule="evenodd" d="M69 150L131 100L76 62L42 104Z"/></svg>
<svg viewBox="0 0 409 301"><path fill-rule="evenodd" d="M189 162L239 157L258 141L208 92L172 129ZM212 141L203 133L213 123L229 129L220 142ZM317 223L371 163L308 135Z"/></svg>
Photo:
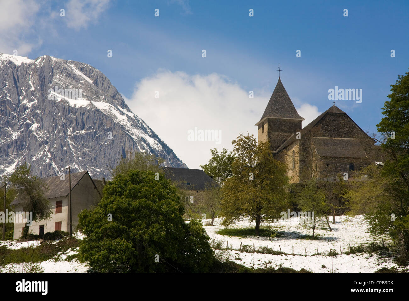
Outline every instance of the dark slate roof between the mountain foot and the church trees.
<svg viewBox="0 0 409 301"><path fill-rule="evenodd" d="M216 185L201 169L163 167L163 171L166 179L175 181L176 186L184 190L205 190L207 186Z"/></svg>

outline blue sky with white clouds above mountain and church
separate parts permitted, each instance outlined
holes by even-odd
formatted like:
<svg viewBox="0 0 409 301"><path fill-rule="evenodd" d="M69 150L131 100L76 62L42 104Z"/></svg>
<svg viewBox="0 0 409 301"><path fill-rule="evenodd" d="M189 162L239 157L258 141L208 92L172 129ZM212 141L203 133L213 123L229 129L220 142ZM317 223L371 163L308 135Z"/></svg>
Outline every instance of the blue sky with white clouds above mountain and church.
<svg viewBox="0 0 409 301"><path fill-rule="evenodd" d="M0 52L47 54L101 70L191 168L207 163L210 148L256 134L278 64L307 121L332 105L328 89L361 88L362 103L335 104L370 132L390 85L409 67L408 1L1 2ZM153 98L154 91L162 96ZM220 129L222 143L187 141L195 127Z"/></svg>

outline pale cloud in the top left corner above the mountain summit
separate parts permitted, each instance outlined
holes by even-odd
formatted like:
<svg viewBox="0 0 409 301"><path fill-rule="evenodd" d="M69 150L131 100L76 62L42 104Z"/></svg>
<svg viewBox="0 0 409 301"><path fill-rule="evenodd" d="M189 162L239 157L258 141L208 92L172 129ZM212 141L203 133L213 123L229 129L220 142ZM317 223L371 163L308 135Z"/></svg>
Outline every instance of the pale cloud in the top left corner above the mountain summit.
<svg viewBox="0 0 409 301"><path fill-rule="evenodd" d="M35 0L2 1L0 4L0 52L27 55L39 41L27 41L25 36L32 36L31 28L35 23L34 16L40 9Z"/></svg>

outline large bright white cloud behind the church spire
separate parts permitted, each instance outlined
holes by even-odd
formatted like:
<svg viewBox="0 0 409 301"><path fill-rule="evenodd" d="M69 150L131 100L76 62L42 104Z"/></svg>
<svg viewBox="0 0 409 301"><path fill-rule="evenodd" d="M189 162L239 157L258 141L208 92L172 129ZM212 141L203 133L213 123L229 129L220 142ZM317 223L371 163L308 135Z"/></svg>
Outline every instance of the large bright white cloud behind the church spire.
<svg viewBox="0 0 409 301"><path fill-rule="evenodd" d="M158 91L159 98L155 98ZM130 109L141 117L189 168L208 163L210 149L232 149L231 140L242 133L254 134L254 125L263 115L271 91L254 91L249 98L238 83L225 75L188 75L159 70L142 79L129 99ZM320 112L316 106L301 104L299 114L310 122ZM305 125L305 123L303 124ZM221 130L221 143L189 141L188 131Z"/></svg>

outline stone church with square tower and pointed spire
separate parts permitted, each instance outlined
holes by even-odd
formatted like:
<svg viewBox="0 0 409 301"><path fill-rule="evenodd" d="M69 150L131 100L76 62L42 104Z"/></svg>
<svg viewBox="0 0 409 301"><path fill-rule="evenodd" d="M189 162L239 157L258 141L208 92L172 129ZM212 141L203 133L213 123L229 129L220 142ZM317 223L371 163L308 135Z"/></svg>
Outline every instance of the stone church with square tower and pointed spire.
<svg viewBox="0 0 409 301"><path fill-rule="evenodd" d="M270 142L274 158L287 165L291 183L335 181L337 174L353 179L355 170L381 161L381 147L337 106L301 129L303 120L279 77L256 126L258 141Z"/></svg>

